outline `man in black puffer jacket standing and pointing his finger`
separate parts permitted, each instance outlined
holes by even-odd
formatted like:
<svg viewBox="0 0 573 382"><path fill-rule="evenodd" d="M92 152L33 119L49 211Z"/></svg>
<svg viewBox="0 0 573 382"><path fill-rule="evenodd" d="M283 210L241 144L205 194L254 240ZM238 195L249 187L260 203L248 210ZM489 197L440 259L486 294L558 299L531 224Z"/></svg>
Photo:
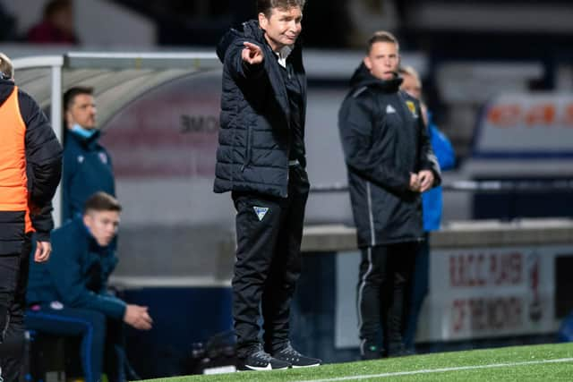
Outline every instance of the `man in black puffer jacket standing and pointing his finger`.
<svg viewBox="0 0 573 382"><path fill-rule="evenodd" d="M297 41L303 8L304 0L258 0L258 21L228 31L217 49L224 69L214 191L231 191L237 211L233 316L239 369L321 363L289 341L309 191L306 76Z"/></svg>

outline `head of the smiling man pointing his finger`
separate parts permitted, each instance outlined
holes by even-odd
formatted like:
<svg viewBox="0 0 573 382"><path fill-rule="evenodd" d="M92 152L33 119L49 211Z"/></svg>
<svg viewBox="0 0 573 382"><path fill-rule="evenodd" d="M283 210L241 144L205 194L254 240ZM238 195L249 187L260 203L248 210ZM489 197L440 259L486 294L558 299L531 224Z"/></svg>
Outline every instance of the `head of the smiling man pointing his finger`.
<svg viewBox="0 0 573 382"><path fill-rule="evenodd" d="M265 31L269 46L278 51L295 44L303 26L303 9L306 0L257 0L259 25Z"/></svg>

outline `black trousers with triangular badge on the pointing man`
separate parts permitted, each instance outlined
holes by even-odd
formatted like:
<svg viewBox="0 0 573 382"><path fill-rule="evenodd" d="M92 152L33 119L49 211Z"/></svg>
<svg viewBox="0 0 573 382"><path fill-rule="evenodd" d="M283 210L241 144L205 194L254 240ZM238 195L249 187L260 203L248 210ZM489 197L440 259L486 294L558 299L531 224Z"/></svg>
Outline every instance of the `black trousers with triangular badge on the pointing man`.
<svg viewBox="0 0 573 382"><path fill-rule="evenodd" d="M233 318L237 355L262 342L274 352L289 341L290 302L301 272L301 240L309 182L301 166L289 169L288 197L233 192L236 261Z"/></svg>

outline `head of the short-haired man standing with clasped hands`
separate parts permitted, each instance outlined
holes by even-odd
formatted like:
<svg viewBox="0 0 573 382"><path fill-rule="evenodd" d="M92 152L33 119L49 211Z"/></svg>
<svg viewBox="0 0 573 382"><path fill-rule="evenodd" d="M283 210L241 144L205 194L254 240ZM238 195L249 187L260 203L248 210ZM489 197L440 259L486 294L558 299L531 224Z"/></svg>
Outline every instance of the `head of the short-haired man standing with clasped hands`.
<svg viewBox="0 0 573 382"><path fill-rule="evenodd" d="M381 30L368 39L364 65L371 74L380 80L396 77L400 65L398 39L391 33Z"/></svg>

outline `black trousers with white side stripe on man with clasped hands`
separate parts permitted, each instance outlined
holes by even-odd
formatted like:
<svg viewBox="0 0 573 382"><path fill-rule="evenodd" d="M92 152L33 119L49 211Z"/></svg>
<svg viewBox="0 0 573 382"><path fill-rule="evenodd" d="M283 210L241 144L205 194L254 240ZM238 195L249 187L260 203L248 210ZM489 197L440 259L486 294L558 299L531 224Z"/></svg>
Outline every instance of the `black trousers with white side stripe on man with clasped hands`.
<svg viewBox="0 0 573 382"><path fill-rule="evenodd" d="M389 355L404 347L408 286L418 245L402 242L362 250L356 299L362 354L370 346Z"/></svg>

